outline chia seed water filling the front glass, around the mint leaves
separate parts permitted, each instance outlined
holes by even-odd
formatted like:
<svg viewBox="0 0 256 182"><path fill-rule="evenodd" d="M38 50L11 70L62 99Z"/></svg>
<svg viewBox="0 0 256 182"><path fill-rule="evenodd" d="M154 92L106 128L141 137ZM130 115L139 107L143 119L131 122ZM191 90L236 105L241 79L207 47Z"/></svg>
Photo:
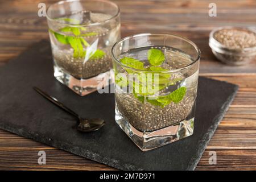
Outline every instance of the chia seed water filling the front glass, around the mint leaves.
<svg viewBox="0 0 256 182"><path fill-rule="evenodd" d="M193 62L191 57L186 53L172 47L144 47L132 49L121 54L118 59L124 57L132 57L143 61L144 68L149 68L147 60L147 52L150 49L158 49L164 53L165 60L160 68L173 70L183 68ZM118 72L127 74L125 69L119 69ZM165 73L166 74L166 73ZM170 102L165 106L155 105L147 100L147 96L143 96L143 102L134 96L134 93L123 92L123 89L116 84L115 86L115 104L118 113L127 120L135 129L139 131L154 131L162 129L175 123L192 119L191 113L195 106L198 69L189 69L189 71L180 71L170 73L167 84L163 89L159 90L159 96L167 96L175 92L175 90L185 87L187 91L184 97L178 103Z"/></svg>

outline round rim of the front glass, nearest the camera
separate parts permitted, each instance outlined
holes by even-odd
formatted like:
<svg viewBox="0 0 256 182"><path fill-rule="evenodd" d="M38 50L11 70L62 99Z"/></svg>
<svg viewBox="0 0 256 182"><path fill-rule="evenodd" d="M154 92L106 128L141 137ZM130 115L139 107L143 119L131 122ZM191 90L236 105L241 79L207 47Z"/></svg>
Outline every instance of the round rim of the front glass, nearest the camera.
<svg viewBox="0 0 256 182"><path fill-rule="evenodd" d="M131 38L136 38L138 36L149 36L149 35L172 36L172 37L175 37L175 38L183 39L184 41L188 42L189 44L191 44L195 48L195 50L197 52L197 57L196 57L195 60L193 60L193 62L191 64L185 65L184 67L181 67L181 68L171 69L171 70L167 70L167 71L145 71L145 70L142 70L142 69L128 67L127 65L121 63L117 59L117 57L114 55L114 47L116 47L121 42L124 42L125 40L131 39ZM174 34L158 34L158 33L152 33L152 34L151 33L142 33L142 34L133 34L133 35L126 36L125 38L122 38L122 39L118 40L118 42L116 42L114 44L114 46L111 49L111 53L112 53L112 57L113 57L114 61L117 62L118 64L121 64L122 67L132 69L135 72L143 72L143 73L173 73L173 72L180 72L180 71L183 71L185 69L191 68L194 64L196 64L200 60L200 57L201 57L200 49L191 40L189 40L187 38L184 38L183 36L179 36L179 35L174 35Z"/></svg>

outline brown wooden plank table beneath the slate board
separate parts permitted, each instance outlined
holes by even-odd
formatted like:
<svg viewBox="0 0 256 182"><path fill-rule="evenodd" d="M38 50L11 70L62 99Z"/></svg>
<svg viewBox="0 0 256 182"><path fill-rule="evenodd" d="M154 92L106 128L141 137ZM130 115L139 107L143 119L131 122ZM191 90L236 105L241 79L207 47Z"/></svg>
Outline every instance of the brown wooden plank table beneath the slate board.
<svg viewBox="0 0 256 182"><path fill-rule="evenodd" d="M0 65L32 43L48 39L45 17L38 3L56 1L0 1ZM201 49L200 75L240 86L238 94L205 150L197 170L256 169L256 60L242 67L221 64L208 46L214 27L256 26L256 1L214 1L217 17L208 15L212 1L114 1L121 8L122 37L139 32L167 32L185 36ZM205 121L207 122L207 121ZM38 164L38 151L47 164ZM209 151L217 152L210 165ZM0 130L0 169L114 169L45 144Z"/></svg>

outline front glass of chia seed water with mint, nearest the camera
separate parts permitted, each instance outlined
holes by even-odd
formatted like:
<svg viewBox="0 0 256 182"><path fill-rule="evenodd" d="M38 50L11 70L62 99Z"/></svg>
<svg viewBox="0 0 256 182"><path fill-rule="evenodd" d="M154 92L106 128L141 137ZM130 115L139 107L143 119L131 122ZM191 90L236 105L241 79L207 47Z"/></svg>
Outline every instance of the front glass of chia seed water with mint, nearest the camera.
<svg viewBox="0 0 256 182"><path fill-rule="evenodd" d="M147 151L193 134L199 48L169 34L138 34L112 48L115 121Z"/></svg>

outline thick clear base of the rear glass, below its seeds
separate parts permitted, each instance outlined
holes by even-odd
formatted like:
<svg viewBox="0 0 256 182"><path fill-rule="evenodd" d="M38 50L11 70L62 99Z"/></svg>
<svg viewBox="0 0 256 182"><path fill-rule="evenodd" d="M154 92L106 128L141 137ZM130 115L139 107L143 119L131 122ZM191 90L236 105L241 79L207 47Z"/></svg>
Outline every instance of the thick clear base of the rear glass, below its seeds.
<svg viewBox="0 0 256 182"><path fill-rule="evenodd" d="M95 92L98 88L104 88L112 83L110 71L101 73L95 77L79 79L65 72L64 69L57 67L57 65L53 65L53 68L55 78L80 96Z"/></svg>

